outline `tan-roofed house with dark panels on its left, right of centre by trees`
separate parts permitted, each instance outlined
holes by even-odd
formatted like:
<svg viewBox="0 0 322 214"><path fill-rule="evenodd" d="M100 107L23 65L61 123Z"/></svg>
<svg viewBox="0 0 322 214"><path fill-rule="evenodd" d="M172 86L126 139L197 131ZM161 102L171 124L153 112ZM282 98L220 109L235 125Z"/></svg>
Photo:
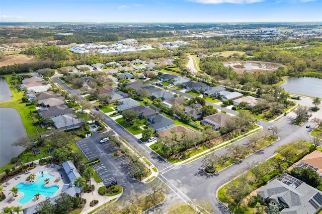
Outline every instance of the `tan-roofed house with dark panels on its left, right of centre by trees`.
<svg viewBox="0 0 322 214"><path fill-rule="evenodd" d="M231 117L222 112L218 112L214 115L209 115L204 117L202 121L200 121L200 125L202 126L211 126L215 131L219 131L221 127L227 125L227 123L231 120Z"/></svg>

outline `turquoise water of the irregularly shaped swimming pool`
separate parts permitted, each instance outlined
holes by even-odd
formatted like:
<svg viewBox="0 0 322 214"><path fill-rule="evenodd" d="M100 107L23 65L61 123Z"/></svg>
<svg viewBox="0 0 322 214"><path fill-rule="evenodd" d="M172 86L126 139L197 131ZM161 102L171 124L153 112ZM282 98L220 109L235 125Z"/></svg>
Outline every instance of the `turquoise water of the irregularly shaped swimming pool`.
<svg viewBox="0 0 322 214"><path fill-rule="evenodd" d="M39 193L43 196L53 196L57 190L59 189L59 186L54 185L54 186L49 186L45 187L45 179L50 178L52 181L54 179L54 175L51 175L48 173L48 171L43 171L44 176L41 176L41 172L38 172L36 174L36 181L30 184L25 184L25 183L19 183L16 185L17 188L19 188L20 192L24 193L24 196L18 201L20 204L27 203L30 201L35 194ZM23 175L27 176L27 175ZM26 181L29 182L29 181Z"/></svg>

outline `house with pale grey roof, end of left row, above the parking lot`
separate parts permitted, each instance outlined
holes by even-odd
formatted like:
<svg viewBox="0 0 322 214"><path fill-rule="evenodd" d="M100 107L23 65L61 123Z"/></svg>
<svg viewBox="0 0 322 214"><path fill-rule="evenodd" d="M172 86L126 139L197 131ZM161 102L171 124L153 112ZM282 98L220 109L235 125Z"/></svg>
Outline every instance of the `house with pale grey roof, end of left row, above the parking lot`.
<svg viewBox="0 0 322 214"><path fill-rule="evenodd" d="M76 118L76 115L59 115L51 118L55 123L55 127L59 131L65 131L70 129L77 129L81 127L83 122Z"/></svg>

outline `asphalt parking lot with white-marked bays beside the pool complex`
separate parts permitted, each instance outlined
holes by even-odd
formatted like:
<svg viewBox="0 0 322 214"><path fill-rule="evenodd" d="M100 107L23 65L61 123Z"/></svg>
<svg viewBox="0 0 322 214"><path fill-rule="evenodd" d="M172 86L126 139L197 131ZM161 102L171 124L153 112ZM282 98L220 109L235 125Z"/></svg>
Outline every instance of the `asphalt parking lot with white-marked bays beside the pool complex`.
<svg viewBox="0 0 322 214"><path fill-rule="evenodd" d="M118 148L111 142L100 144L103 137L106 136L95 133L92 137L76 141L78 148L81 149L88 160L99 158L102 161L93 167L103 183L106 185L116 180L118 185L123 186L124 193L129 193L131 189L145 190L146 187L131 175L131 165L127 158L124 155L117 157L112 155L118 151Z"/></svg>

